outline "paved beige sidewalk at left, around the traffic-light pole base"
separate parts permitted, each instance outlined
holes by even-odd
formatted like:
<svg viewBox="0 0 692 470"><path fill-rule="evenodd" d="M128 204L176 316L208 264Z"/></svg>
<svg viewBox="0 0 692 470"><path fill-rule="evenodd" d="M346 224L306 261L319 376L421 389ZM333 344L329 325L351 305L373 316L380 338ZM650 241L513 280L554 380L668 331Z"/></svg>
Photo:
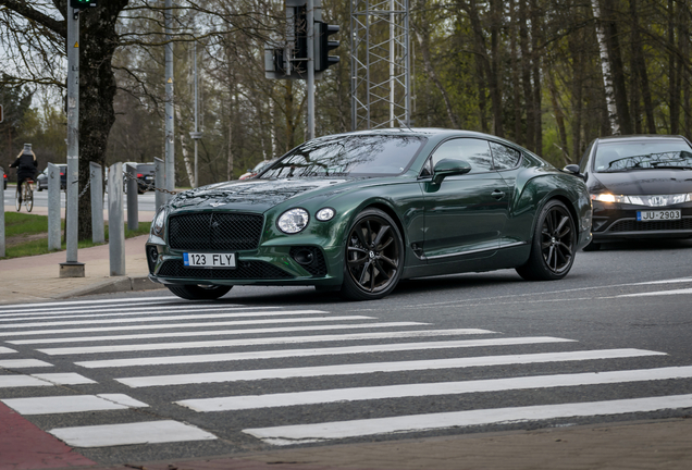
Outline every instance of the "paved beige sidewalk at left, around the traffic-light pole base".
<svg viewBox="0 0 692 470"><path fill-rule="evenodd" d="M0 260L0 305L163 288L147 277L146 240L147 235L125 240L124 276L110 275L108 245L78 250L77 260L85 264L84 277L59 277L65 251Z"/></svg>

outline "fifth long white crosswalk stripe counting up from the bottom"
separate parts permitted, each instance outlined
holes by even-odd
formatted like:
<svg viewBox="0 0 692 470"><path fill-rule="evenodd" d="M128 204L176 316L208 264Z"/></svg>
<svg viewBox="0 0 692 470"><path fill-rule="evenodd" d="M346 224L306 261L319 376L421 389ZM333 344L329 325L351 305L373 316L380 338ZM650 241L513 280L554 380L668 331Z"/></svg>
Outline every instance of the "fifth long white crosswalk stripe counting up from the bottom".
<svg viewBox="0 0 692 470"><path fill-rule="evenodd" d="M252 330L254 331L254 330ZM403 337L430 337L430 336L452 336L462 334L478 334L478 332L492 333L483 330L417 330L404 332L378 332L378 333L350 333L339 335L314 335L314 336L272 336L264 338L245 338L245 339L218 339L206 342L186 342L186 343L146 343L134 345L106 345L106 346L83 346L83 347L63 347L63 348L44 348L37 349L49 356L61 355L79 355L96 352L135 352L145 350L163 350L163 349L199 349L211 347L233 347L233 346L257 346L268 344L295 344L295 343L323 343L338 341L363 341L363 339L391 339Z"/></svg>

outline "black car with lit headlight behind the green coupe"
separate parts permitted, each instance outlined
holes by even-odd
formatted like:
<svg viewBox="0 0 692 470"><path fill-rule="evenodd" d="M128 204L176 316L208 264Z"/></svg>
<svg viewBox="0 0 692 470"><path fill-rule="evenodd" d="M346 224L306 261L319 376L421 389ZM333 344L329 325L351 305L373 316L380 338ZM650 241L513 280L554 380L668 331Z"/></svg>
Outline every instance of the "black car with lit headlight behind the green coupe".
<svg viewBox="0 0 692 470"><path fill-rule="evenodd" d="M682 136L595 139L580 168L593 203L593 242L692 237L692 145Z"/></svg>

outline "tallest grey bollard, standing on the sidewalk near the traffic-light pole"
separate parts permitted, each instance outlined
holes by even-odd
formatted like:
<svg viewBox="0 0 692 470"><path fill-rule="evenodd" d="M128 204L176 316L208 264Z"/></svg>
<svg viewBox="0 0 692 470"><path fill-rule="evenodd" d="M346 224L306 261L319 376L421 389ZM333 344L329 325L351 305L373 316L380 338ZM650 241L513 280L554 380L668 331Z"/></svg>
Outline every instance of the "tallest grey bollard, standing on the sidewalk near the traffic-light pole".
<svg viewBox="0 0 692 470"><path fill-rule="evenodd" d="M123 223L123 164L108 170L108 251L111 275L125 275L125 225Z"/></svg>

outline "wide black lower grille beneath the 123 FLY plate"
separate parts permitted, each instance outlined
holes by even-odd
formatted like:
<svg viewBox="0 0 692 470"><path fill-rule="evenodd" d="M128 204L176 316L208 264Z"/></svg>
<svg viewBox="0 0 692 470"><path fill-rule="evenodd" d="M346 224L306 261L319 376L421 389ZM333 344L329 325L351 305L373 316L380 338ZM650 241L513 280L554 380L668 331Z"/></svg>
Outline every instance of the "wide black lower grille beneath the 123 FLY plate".
<svg viewBox="0 0 692 470"><path fill-rule="evenodd" d="M291 274L264 261L240 261L236 269L185 268L183 261L172 260L161 264L160 277L194 277L206 280L282 280Z"/></svg>

